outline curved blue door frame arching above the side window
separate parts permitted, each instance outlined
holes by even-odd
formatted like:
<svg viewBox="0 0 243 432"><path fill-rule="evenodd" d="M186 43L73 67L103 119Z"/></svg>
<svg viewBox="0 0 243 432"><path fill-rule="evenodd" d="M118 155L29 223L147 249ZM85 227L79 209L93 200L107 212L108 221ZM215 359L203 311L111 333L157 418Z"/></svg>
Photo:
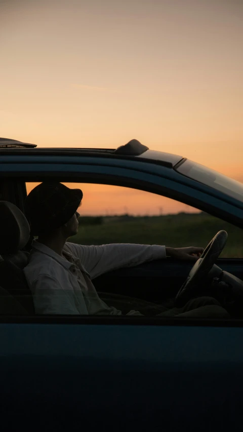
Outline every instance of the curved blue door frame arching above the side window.
<svg viewBox="0 0 243 432"><path fill-rule="evenodd" d="M64 162L63 162L64 161ZM1 177L102 183L137 188L180 201L243 228L243 203L223 192L147 162L76 156L2 156Z"/></svg>

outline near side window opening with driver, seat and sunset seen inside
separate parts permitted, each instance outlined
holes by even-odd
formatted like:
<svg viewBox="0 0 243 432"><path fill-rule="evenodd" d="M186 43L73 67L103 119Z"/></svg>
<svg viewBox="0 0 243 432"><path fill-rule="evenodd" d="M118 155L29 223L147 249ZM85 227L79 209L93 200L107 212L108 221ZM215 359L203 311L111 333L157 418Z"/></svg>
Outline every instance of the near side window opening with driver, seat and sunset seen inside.
<svg viewBox="0 0 243 432"><path fill-rule="evenodd" d="M36 185L26 183L27 193ZM218 290L218 282L213 282L217 278L205 279L203 287L198 280L203 291L197 292L196 285L192 295L187 292L189 298L178 297L196 260L195 254L203 251L219 230L229 234L222 256L242 258L239 228L154 193L86 183L63 183L62 191L65 186L83 190L82 205L77 209L80 216L73 213L71 219L59 225L62 229L55 241L52 234L57 231L53 226L43 241L34 239L24 250L3 254L0 315L228 319L234 307L233 317L241 318L242 308L232 306L235 298L230 285L234 278L236 290L243 290L237 279L242 279L241 264L237 267L234 262L234 268L224 267L233 273L230 281L229 273L225 274L226 282L223 280L229 297L225 297L222 288ZM65 193L73 200L73 193ZM80 198L80 192L75 193ZM75 206L78 202L79 199ZM58 214L57 206L58 201L55 207L51 206L54 217ZM41 207L33 207L32 221L41 211ZM23 229L23 236L28 238L27 228ZM194 249L178 251L184 247ZM172 259L166 259L167 256Z"/></svg>

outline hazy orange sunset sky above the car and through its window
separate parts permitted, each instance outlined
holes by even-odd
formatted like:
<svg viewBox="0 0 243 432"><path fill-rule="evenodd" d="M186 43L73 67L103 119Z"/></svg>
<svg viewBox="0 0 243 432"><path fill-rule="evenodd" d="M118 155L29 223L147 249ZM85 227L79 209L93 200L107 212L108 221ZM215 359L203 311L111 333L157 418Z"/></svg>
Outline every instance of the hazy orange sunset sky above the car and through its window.
<svg viewBox="0 0 243 432"><path fill-rule="evenodd" d="M136 138L243 181L242 20L242 0L0 0L0 135ZM84 187L86 212L101 191L114 213L147 212L146 192L119 189L118 210L114 187ZM183 208L149 197L155 213Z"/></svg>

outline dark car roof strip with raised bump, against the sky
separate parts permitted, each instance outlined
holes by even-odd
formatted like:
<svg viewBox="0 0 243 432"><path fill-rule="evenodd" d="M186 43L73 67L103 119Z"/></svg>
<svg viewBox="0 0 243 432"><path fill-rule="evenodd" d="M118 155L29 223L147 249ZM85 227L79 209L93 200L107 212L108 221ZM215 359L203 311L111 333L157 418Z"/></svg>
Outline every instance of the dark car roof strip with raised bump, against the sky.
<svg viewBox="0 0 243 432"><path fill-rule="evenodd" d="M174 168L179 162L185 160L177 154L150 150L147 146L133 139L125 145L112 148L90 147L37 147L36 144L17 141L10 138L0 138L0 154L31 154L31 155L78 155L108 157L112 159L137 160L151 164Z"/></svg>

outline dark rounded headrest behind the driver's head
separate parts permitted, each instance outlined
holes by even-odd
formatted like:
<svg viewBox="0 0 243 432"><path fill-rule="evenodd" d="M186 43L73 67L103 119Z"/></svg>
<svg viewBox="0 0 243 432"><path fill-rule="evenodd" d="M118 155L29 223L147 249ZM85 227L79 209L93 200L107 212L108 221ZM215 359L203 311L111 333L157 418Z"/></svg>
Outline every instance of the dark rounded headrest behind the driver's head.
<svg viewBox="0 0 243 432"><path fill-rule="evenodd" d="M29 240L29 224L14 204L0 201L0 255L13 254Z"/></svg>

